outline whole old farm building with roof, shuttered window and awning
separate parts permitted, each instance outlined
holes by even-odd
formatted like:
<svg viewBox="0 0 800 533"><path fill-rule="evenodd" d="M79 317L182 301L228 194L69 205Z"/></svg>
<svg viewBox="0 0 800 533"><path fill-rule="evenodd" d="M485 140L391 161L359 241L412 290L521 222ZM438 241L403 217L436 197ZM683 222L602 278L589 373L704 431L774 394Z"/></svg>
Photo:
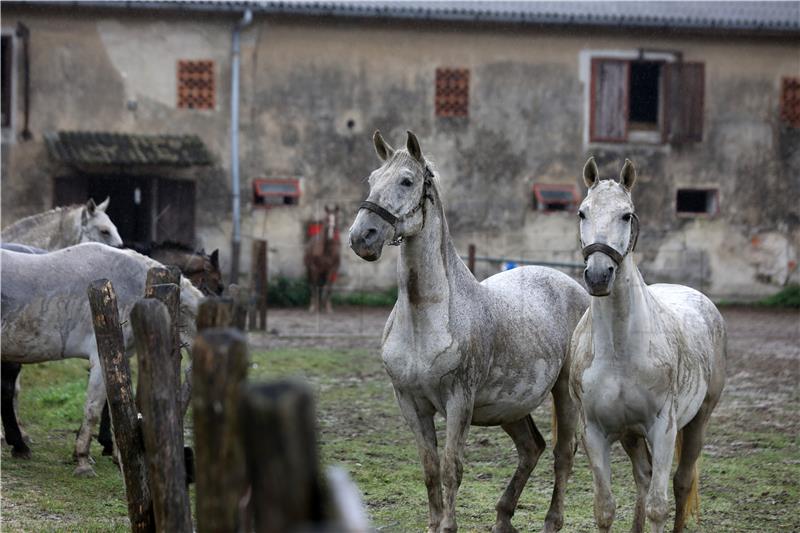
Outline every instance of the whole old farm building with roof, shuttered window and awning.
<svg viewBox="0 0 800 533"><path fill-rule="evenodd" d="M250 10L252 20L242 20ZM582 165L639 171L648 281L750 298L798 281L798 2L3 2L2 223L112 198L128 240L232 238L232 35L241 36L243 270L303 275L307 224L346 235L413 130L459 250L580 262ZM342 250L342 288L394 282Z"/></svg>

